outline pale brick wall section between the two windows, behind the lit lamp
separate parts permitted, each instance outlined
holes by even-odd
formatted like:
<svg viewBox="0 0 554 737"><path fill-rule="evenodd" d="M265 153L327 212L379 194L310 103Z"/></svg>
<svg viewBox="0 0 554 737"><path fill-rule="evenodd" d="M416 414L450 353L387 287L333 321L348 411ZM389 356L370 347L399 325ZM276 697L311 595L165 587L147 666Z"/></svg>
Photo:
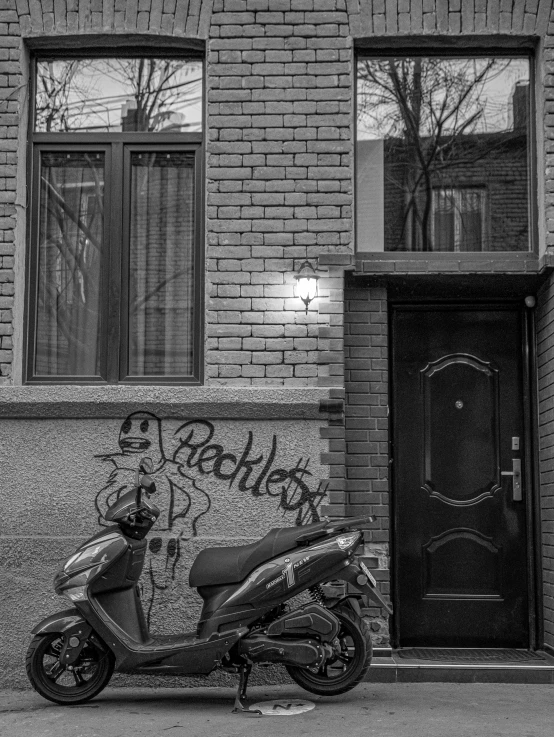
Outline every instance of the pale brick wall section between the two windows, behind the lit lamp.
<svg viewBox="0 0 554 737"><path fill-rule="evenodd" d="M343 0L216 0L208 56L212 384L330 378L336 284L294 299L306 259L351 249L351 40ZM315 263L315 261L313 262ZM330 275L330 278L331 275ZM335 362L338 363L338 362Z"/></svg>

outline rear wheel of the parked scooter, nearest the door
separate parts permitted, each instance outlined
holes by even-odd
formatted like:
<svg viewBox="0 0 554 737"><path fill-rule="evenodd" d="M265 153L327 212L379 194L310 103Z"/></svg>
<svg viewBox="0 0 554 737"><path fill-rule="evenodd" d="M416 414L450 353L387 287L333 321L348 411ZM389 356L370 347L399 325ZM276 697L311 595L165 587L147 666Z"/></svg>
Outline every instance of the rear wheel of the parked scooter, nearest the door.
<svg viewBox="0 0 554 737"><path fill-rule="evenodd" d="M341 624L338 657L328 660L316 673L308 668L285 666L293 681L319 696L336 696L357 686L367 673L373 652L369 627L361 617L345 605L337 606L333 614Z"/></svg>

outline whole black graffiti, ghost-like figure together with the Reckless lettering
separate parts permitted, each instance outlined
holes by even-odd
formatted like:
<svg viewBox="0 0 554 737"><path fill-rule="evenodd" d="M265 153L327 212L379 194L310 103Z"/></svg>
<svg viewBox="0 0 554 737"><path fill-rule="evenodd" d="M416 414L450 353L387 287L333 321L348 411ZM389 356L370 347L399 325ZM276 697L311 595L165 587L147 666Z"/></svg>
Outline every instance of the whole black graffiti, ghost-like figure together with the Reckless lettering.
<svg viewBox="0 0 554 737"><path fill-rule="evenodd" d="M299 458L291 468L281 467L276 463L276 435L266 453L254 451L251 431L238 453L212 442L215 436L211 422L190 420L175 431L173 454L166 453L161 419L150 412L134 412L121 425L117 451L95 456L110 465L107 482L95 500L102 525L107 524L103 517L107 508L134 486L139 459L148 456L153 463L150 475L156 483L156 506L161 514L154 527L157 534L149 541L143 575L142 599L149 625L153 609L175 580L183 544L198 535L212 508L212 499L203 488L210 477L225 482L229 490L244 493L245 504L248 499L274 499L284 515L294 514L297 525L320 519L318 507L325 489L322 483L315 491L310 489L309 458Z"/></svg>

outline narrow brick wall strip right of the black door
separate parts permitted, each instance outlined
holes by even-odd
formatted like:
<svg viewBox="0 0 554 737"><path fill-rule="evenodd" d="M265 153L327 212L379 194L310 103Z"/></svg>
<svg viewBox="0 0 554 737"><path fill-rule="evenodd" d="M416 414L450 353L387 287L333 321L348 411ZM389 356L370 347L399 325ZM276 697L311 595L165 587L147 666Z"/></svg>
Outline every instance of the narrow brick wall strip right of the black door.
<svg viewBox="0 0 554 737"><path fill-rule="evenodd" d="M554 277L537 299L539 481L545 643L554 647Z"/></svg>

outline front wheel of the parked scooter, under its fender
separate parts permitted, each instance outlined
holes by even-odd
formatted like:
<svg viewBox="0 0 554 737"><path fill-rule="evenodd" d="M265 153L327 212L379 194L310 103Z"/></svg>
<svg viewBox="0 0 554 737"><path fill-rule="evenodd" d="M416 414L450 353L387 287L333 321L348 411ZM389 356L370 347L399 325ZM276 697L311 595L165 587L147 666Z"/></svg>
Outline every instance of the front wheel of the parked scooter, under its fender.
<svg viewBox="0 0 554 737"><path fill-rule="evenodd" d="M27 650L27 675L35 691L56 704L82 704L107 686L114 669L111 651L89 638L72 666L60 663L64 635L36 635Z"/></svg>

